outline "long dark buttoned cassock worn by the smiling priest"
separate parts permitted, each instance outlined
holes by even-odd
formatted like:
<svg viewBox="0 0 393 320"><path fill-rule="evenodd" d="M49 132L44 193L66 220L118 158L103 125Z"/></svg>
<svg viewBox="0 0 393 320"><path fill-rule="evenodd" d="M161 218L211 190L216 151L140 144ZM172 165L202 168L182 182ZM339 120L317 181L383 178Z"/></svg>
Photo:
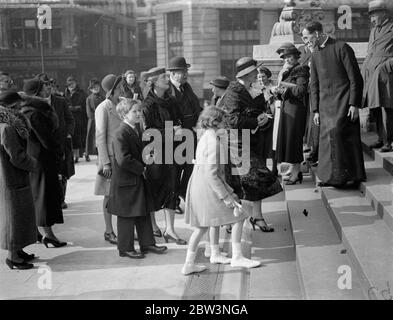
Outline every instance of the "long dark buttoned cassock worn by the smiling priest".
<svg viewBox="0 0 393 320"><path fill-rule="evenodd" d="M311 59L311 104L320 114L318 177L332 185L366 179L360 122L347 116L362 101L363 80L353 49L329 38Z"/></svg>

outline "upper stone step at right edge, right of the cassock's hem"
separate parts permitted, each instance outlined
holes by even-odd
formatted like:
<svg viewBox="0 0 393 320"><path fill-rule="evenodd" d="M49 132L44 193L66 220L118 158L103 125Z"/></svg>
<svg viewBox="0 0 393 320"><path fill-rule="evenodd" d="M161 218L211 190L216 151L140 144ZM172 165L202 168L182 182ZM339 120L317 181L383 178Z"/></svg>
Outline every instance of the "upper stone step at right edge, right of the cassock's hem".
<svg viewBox="0 0 393 320"><path fill-rule="evenodd" d="M361 183L360 190L371 207L393 232L393 177L380 164L365 157L367 181Z"/></svg>

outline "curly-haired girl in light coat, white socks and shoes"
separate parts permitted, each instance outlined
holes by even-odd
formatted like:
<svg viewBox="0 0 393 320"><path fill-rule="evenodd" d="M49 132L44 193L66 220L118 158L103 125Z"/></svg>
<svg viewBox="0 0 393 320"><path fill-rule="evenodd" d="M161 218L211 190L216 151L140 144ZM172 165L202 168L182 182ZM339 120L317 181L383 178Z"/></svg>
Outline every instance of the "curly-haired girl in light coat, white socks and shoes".
<svg viewBox="0 0 393 320"><path fill-rule="evenodd" d="M225 180L227 158L227 130L225 112L217 107L205 109L199 119L203 130L196 150L194 169L188 183L185 201L185 220L194 227L182 273L202 272L205 266L195 264L198 244L211 227L211 263L230 263L232 267L253 268L259 261L247 259L241 251L244 220L239 198ZM236 208L236 210L235 210ZM219 228L232 224L232 259L219 251Z"/></svg>

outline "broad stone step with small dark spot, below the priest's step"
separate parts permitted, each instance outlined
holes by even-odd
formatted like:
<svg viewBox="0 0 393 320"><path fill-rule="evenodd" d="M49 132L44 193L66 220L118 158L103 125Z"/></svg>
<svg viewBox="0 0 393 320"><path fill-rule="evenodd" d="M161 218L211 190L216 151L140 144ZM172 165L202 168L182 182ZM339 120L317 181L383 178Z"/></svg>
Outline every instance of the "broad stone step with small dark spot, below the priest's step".
<svg viewBox="0 0 393 320"><path fill-rule="evenodd" d="M305 177L301 185L285 186L285 197L304 299L367 299L312 177ZM340 289L341 268L348 267L352 281Z"/></svg>

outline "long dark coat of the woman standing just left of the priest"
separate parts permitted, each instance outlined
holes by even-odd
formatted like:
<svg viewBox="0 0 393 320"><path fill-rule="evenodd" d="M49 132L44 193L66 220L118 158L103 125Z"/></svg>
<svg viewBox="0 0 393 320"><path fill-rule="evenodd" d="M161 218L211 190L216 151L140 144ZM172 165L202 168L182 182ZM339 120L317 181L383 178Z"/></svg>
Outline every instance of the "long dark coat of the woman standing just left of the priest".
<svg viewBox="0 0 393 320"><path fill-rule="evenodd" d="M277 139L277 161L301 163L307 122L309 67L297 65L283 74L282 81L295 84L281 95L283 101Z"/></svg>

